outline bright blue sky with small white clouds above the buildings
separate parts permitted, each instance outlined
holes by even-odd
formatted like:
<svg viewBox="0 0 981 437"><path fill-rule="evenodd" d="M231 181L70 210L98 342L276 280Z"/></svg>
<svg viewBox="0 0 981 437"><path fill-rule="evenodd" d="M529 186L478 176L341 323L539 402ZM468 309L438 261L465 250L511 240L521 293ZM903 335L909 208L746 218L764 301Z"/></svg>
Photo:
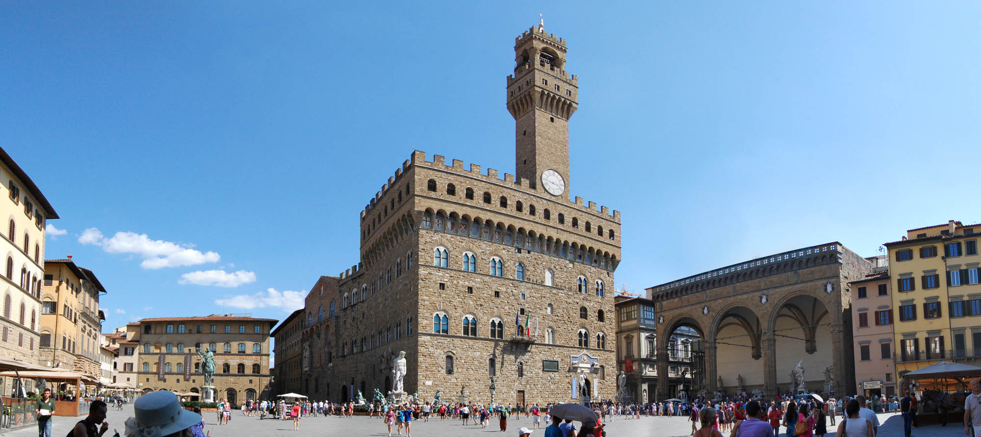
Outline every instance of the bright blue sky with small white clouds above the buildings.
<svg viewBox="0 0 981 437"><path fill-rule="evenodd" d="M105 331L282 319L357 263L413 149L513 172L504 80L540 13L579 75L571 194L623 214L617 288L981 221L978 3L348 3L0 6L0 145Z"/></svg>

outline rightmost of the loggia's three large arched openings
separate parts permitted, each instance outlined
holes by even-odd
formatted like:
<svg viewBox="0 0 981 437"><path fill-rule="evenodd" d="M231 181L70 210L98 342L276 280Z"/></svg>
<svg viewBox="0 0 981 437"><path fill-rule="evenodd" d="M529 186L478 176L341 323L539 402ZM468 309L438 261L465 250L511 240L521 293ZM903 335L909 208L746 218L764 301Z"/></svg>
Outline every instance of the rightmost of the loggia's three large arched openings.
<svg viewBox="0 0 981 437"><path fill-rule="evenodd" d="M824 370L841 363L839 359L848 351L840 349L852 346L851 343L843 348L833 346L832 323L834 320L824 302L810 294L789 297L776 308L769 322L775 352L772 354L776 376L773 389L781 393L791 388L799 391L801 381L795 368L800 363L804 369L803 389L827 393Z"/></svg>

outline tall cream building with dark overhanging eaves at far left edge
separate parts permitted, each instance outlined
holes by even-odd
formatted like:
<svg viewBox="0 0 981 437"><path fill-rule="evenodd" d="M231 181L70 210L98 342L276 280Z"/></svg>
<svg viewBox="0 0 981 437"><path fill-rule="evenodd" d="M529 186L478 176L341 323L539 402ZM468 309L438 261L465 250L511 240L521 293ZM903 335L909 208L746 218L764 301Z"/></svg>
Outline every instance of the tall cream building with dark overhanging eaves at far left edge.
<svg viewBox="0 0 981 437"><path fill-rule="evenodd" d="M0 214L7 229L0 239L6 267L0 283L0 356L38 362L41 277L44 274L45 222L58 218L41 190L5 150L0 148L0 181L7 201Z"/></svg>

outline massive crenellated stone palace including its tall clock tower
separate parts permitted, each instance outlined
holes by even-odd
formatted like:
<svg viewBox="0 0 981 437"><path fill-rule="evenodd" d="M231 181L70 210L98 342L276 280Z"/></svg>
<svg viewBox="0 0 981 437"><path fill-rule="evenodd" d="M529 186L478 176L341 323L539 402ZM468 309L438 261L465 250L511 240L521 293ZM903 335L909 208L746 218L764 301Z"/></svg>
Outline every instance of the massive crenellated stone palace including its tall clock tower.
<svg viewBox="0 0 981 437"><path fill-rule="evenodd" d="M523 405L614 397L606 338L616 329L620 213L570 200L579 90L565 71L566 41L539 25L514 49L504 91L516 174L423 152L395 170L361 213L361 262L305 308L314 347L302 352L304 394L387 392L404 351L404 390L427 400L437 391Z"/></svg>

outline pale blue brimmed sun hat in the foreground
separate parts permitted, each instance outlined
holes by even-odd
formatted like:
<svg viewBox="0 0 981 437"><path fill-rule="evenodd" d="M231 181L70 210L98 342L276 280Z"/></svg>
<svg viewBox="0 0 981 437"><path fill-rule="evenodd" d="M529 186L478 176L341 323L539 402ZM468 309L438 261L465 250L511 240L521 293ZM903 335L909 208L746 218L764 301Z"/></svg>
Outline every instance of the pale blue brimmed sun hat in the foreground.
<svg viewBox="0 0 981 437"><path fill-rule="evenodd" d="M162 437L201 421L201 414L181 408L177 395L168 391L147 393L133 403L136 416L126 420L127 437Z"/></svg>

